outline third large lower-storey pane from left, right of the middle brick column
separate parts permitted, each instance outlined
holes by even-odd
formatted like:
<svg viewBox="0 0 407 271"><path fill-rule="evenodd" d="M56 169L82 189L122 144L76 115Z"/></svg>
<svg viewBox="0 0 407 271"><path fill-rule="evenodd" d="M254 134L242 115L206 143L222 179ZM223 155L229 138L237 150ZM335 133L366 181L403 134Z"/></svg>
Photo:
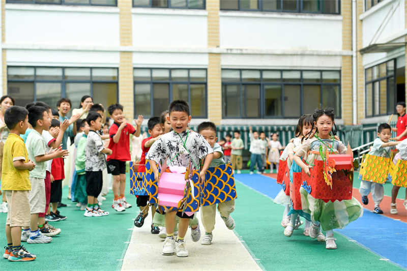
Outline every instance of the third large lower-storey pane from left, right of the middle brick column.
<svg viewBox="0 0 407 271"><path fill-rule="evenodd" d="M281 85L265 85L264 94L265 94L265 115L267 117L283 116Z"/></svg>

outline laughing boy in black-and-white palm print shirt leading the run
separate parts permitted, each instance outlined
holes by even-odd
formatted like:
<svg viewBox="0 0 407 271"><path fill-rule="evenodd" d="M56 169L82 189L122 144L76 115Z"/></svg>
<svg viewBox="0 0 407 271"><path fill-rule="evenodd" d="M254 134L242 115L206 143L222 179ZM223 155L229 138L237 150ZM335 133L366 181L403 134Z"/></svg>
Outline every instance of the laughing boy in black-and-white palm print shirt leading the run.
<svg viewBox="0 0 407 271"><path fill-rule="evenodd" d="M151 146L146 160L149 160L150 166L154 172L156 180L158 179L157 164L167 159L168 166L188 166L193 161L193 167L200 165L200 159L205 159L205 163L199 172L201 183L205 182L205 173L209 168L213 158L213 149L211 145L198 133L188 130L188 123L191 122L189 115L189 106L185 101L173 101L169 105L168 121L173 131L164 134ZM176 215L180 217L178 225L177 242L174 240L173 229L175 227ZM181 212L171 212L165 214L165 226L167 229L167 238L164 241L162 254L172 255L175 250L178 257L187 257L188 250L185 247L184 237L188 229L189 220L193 216L182 215Z"/></svg>

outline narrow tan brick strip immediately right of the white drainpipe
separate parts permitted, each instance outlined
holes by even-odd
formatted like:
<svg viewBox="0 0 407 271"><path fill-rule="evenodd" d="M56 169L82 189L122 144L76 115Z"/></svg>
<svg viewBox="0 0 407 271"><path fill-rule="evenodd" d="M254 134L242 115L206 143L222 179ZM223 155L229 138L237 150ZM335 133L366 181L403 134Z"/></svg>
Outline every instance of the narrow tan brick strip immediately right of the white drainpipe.
<svg viewBox="0 0 407 271"><path fill-rule="evenodd" d="M363 2L357 1L357 22L356 22L356 41L357 41L357 78L358 78L358 123L365 117L365 70L363 68L362 54L362 21L359 15L363 13Z"/></svg>

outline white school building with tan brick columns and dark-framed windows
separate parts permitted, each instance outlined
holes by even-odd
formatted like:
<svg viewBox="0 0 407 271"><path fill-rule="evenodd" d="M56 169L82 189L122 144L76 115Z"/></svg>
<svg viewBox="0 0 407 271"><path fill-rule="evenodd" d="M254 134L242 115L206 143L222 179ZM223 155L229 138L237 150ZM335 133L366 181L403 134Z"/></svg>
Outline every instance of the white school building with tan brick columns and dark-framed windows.
<svg viewBox="0 0 407 271"><path fill-rule="evenodd" d="M2 0L1 23L1 89L22 106L91 95L148 119L184 99L192 126L282 144L331 106L355 146L407 98L407 0Z"/></svg>

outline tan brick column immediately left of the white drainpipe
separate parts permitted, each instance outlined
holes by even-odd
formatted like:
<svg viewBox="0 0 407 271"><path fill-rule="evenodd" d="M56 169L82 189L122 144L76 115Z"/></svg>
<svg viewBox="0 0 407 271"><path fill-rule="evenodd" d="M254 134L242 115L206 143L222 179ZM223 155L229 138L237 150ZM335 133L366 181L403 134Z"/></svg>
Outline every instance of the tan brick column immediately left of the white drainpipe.
<svg viewBox="0 0 407 271"><path fill-rule="evenodd" d="M352 50L352 1L341 1L342 50ZM352 124L352 56L342 56L342 118Z"/></svg>

